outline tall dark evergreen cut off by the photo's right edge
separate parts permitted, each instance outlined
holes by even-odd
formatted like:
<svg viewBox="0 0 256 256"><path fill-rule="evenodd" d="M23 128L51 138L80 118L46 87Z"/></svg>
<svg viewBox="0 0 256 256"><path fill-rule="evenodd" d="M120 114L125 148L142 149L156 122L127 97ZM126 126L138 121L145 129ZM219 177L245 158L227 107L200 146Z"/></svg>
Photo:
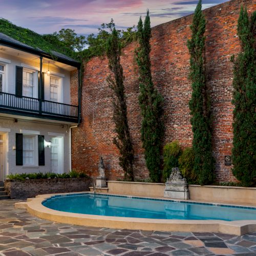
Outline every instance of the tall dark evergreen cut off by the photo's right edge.
<svg viewBox="0 0 256 256"><path fill-rule="evenodd" d="M244 186L256 183L256 11L248 17L241 7L238 36L242 52L233 68L233 175Z"/></svg>

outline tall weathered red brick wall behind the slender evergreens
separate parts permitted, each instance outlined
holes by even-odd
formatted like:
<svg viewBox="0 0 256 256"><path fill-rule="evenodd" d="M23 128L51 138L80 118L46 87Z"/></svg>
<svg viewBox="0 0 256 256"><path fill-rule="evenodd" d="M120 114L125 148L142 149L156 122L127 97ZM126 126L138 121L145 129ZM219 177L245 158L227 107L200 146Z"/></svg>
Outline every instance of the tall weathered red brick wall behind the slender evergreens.
<svg viewBox="0 0 256 256"><path fill-rule="evenodd" d="M232 0L204 10L206 25L207 86L212 100L213 149L216 177L234 181L231 166L224 165L224 156L231 155L232 146L232 63L230 57L240 51L237 20L241 4L251 13L254 0ZM189 54L186 42L191 35L193 15L161 24L152 29L152 74L155 86L164 97L165 134L163 144L179 140L182 147L191 146L188 101L191 87L188 80ZM134 57L136 43L123 49L121 63L125 75L125 93L129 125L135 149L135 176L148 177L140 141L141 116L138 105L138 68ZM72 132L72 166L89 175L97 175L99 156L106 165L106 176L122 177L112 121L111 90L106 83L108 60L96 57L84 66L82 84L82 123Z"/></svg>

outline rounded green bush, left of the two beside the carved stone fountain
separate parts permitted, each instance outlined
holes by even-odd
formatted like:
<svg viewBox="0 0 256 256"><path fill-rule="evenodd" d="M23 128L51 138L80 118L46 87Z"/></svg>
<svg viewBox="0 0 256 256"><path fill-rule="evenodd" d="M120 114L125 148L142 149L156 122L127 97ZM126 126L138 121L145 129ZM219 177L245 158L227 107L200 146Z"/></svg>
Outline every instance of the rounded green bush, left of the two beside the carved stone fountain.
<svg viewBox="0 0 256 256"><path fill-rule="evenodd" d="M163 148L163 179L169 178L173 167L179 166L179 157L182 153L179 141L167 143Z"/></svg>

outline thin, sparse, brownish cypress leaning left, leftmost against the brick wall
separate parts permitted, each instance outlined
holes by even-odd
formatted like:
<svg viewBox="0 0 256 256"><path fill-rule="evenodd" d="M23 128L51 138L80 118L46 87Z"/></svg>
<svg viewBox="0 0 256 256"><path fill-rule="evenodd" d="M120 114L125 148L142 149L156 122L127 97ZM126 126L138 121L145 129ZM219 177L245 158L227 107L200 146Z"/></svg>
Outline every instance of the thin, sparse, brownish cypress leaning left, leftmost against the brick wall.
<svg viewBox="0 0 256 256"><path fill-rule="evenodd" d="M127 106L123 84L124 76L120 63L120 54L121 44L119 35L118 31L114 28L106 42L106 55L109 59L110 70L113 73L113 76L109 75L107 78L107 82L114 93L112 98L114 107L113 120L117 137L114 138L113 143L120 152L119 165L124 171L124 179L134 181L134 150L127 120Z"/></svg>

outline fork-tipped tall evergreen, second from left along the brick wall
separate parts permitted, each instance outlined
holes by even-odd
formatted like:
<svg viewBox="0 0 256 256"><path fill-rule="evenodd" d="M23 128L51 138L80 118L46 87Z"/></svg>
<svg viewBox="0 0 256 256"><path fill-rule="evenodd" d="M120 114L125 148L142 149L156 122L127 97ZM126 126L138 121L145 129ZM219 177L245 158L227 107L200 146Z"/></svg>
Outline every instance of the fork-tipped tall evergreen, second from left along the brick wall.
<svg viewBox="0 0 256 256"><path fill-rule="evenodd" d="M145 150L146 167L150 172L150 178L152 181L158 182L161 174L161 140L164 133L161 106L163 98L154 87L152 81L150 60L151 27L148 11L144 26L140 17L137 33L139 40L139 48L136 51L140 81L139 104L142 115L141 140Z"/></svg>

